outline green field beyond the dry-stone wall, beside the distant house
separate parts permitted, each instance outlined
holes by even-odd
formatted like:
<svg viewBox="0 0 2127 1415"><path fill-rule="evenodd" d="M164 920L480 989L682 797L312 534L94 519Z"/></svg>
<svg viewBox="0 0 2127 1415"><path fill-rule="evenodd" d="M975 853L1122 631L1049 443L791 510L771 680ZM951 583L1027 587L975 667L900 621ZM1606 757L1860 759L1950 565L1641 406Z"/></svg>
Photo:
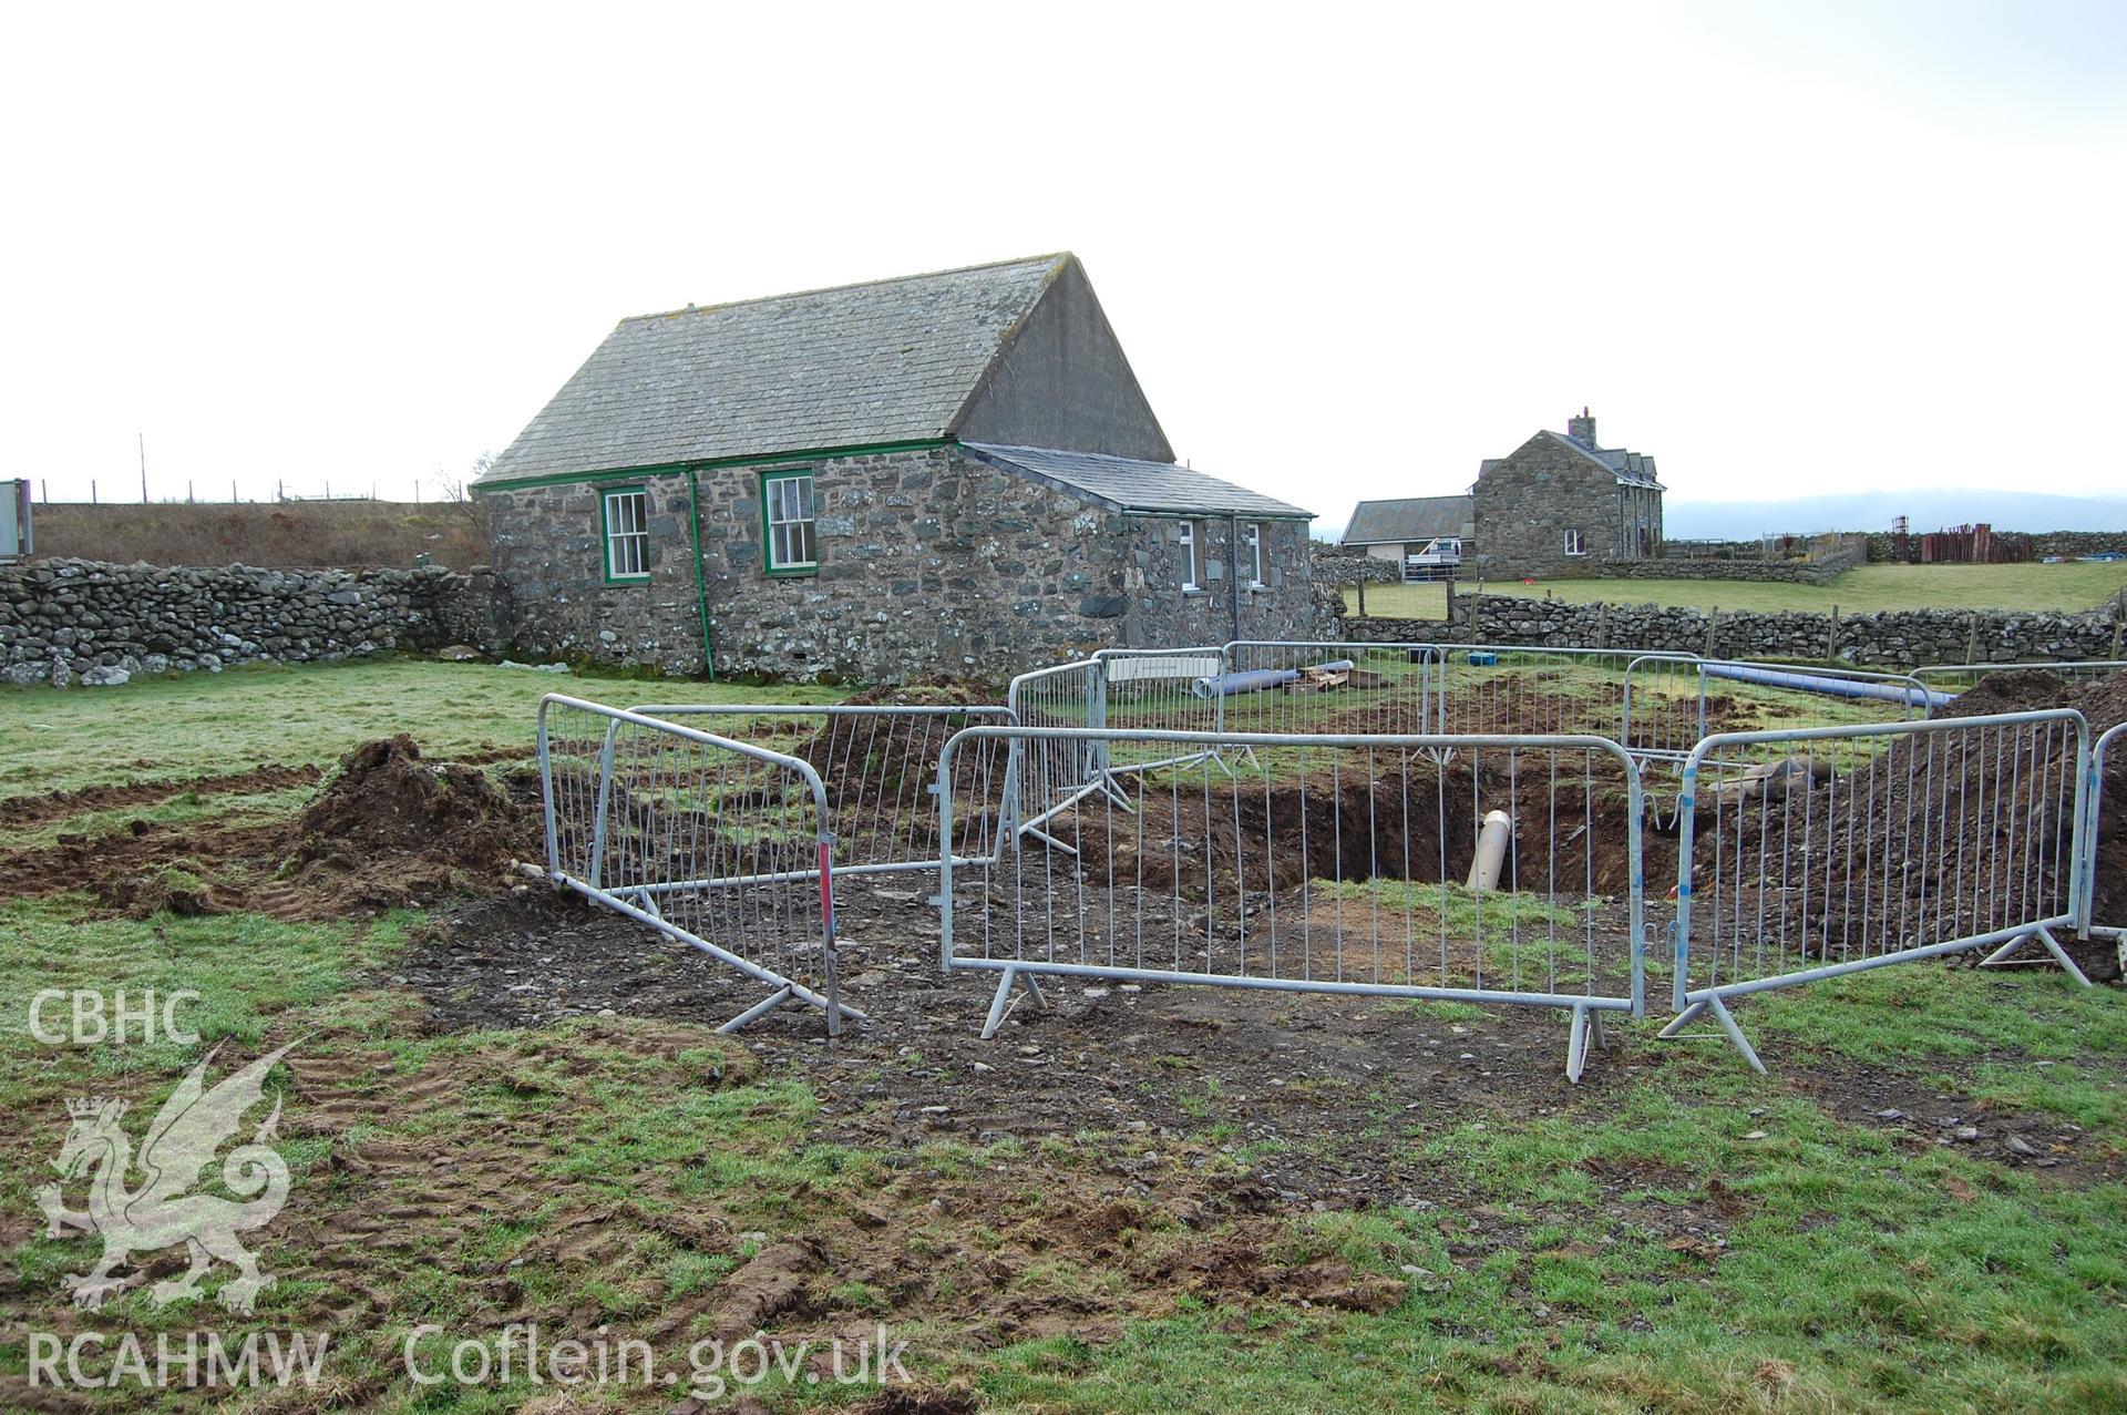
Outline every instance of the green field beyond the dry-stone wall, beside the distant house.
<svg viewBox="0 0 2127 1415"><path fill-rule="evenodd" d="M1463 589L1474 585L1466 583ZM1699 579L1563 579L1525 585L1485 581L1487 594L1546 594L1574 604L1659 604L1663 609L1808 609L1865 615L1880 609L2027 609L2084 611L2127 589L2127 562L2061 566L1859 566L1829 585L1761 585ZM1357 611L1359 592L1344 589ZM1368 585L1366 609L1391 619L1440 619L1442 585Z"/></svg>

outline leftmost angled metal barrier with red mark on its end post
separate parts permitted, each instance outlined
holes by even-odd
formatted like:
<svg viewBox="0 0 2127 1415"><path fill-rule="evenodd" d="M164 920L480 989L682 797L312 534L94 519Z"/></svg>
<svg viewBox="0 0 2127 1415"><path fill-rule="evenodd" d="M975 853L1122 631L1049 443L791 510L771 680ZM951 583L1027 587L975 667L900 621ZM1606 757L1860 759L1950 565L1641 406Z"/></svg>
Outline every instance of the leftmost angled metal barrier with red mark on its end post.
<svg viewBox="0 0 2127 1415"><path fill-rule="evenodd" d="M838 996L827 789L793 755L564 694L538 704L547 877L717 958L785 1002L864 1013Z"/></svg>

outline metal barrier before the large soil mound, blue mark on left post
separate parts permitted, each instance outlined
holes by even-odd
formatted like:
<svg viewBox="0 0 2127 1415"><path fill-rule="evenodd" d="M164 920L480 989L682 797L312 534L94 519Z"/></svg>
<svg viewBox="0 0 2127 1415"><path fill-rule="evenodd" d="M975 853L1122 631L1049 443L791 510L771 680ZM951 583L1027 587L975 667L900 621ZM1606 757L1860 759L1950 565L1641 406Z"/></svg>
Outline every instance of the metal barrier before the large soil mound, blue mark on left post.
<svg viewBox="0 0 2127 1415"><path fill-rule="evenodd" d="M1729 998L2074 923L2091 732L2080 713L1725 732L1685 760L1676 1036L1710 1013L1765 1070Z"/></svg>

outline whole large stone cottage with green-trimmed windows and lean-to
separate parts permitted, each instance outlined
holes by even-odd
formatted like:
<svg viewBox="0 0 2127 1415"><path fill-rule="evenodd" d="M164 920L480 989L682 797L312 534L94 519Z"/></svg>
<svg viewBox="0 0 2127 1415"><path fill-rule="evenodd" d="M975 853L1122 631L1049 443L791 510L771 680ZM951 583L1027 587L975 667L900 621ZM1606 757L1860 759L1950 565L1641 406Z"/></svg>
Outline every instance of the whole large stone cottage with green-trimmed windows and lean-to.
<svg viewBox="0 0 2127 1415"><path fill-rule="evenodd" d="M1327 628L1312 513L1176 464L1070 253L623 319L474 494L519 653L893 683Z"/></svg>

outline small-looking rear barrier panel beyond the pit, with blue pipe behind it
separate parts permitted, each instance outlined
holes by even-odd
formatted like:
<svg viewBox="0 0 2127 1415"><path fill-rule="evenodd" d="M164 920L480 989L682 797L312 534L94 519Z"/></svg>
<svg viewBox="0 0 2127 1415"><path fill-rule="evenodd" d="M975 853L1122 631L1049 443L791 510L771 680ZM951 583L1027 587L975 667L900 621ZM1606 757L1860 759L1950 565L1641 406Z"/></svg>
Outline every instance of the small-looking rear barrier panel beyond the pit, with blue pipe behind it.
<svg viewBox="0 0 2127 1415"><path fill-rule="evenodd" d="M1429 643L1236 638L1225 672L1198 685L1227 732L1431 732L1440 649Z"/></svg>

